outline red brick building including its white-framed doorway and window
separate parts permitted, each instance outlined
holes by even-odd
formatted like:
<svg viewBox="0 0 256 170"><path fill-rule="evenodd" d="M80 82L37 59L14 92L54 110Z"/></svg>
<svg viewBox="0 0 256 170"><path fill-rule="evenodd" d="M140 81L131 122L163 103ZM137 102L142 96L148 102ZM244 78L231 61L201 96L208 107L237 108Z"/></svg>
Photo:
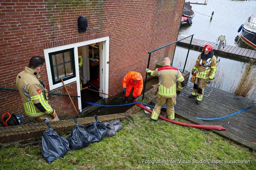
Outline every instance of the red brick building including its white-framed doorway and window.
<svg viewBox="0 0 256 170"><path fill-rule="evenodd" d="M148 51L177 40L184 5L184 0L0 2L0 87L16 89L17 73L32 56L41 55L46 60L41 79L48 91L66 94L62 77L70 95L81 96L72 97L80 112L81 101L89 98L80 91L78 48L84 60L83 77L95 80L101 91L117 95L127 72L138 71L145 79ZM86 32L78 32L79 16L88 20ZM150 68L163 57L172 58L174 48L152 53ZM76 116L69 97L51 96L50 102L60 119ZM0 89L0 103L1 115L25 115L17 91Z"/></svg>

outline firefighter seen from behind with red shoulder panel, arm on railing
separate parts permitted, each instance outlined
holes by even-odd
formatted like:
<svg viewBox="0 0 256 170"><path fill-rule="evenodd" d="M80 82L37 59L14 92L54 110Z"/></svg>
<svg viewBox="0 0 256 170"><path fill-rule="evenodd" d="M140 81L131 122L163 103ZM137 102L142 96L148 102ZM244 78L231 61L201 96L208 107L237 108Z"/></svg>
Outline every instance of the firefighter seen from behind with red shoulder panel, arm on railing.
<svg viewBox="0 0 256 170"><path fill-rule="evenodd" d="M185 81L179 69L171 67L170 58L163 59L163 67L157 68L154 71L146 69L149 76L158 76L158 92L157 103L152 111L151 121L157 120L160 114L162 105L166 103L167 118L174 119L174 105L176 104L176 89L177 95L185 86ZM179 82L176 88L176 82Z"/></svg>

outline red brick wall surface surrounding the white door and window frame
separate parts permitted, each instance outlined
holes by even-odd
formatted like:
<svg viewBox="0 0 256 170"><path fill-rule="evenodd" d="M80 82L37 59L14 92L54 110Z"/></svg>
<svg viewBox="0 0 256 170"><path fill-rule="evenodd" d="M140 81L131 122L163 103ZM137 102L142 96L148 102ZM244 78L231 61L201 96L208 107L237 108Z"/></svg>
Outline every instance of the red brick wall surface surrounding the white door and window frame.
<svg viewBox="0 0 256 170"><path fill-rule="evenodd" d="M4 1L4 2L3 2ZM0 3L0 87L16 88L17 73L43 50L110 36L109 93L122 91L122 79L136 70L145 78L148 51L178 36L184 0L2 0ZM78 33L77 18L88 19L85 33ZM175 46L152 53L150 68L173 56ZM48 87L47 73L43 80ZM2 79L3 78L3 79ZM76 83L68 86L77 95ZM66 94L64 88L54 90ZM17 91L0 90L0 114L24 114ZM78 107L77 99L73 99ZM75 115L69 97L52 97L61 119Z"/></svg>

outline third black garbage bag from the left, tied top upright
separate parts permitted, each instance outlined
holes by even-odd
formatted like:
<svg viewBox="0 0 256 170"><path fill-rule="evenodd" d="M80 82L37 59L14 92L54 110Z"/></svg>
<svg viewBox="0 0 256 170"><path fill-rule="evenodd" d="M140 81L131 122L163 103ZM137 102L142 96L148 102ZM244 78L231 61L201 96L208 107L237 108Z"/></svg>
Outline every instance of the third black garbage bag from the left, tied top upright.
<svg viewBox="0 0 256 170"><path fill-rule="evenodd" d="M85 128L87 132L96 136L92 143L99 142L106 134L106 125L98 120L97 115L94 115L94 118L96 122L90 122L90 124L88 124Z"/></svg>

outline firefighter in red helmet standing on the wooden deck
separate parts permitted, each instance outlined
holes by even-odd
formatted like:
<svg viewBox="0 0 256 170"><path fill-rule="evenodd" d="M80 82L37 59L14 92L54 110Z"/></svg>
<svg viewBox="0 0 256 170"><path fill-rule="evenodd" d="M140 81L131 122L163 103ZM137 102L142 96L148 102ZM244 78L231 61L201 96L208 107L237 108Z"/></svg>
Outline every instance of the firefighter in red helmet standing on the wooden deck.
<svg viewBox="0 0 256 170"><path fill-rule="evenodd" d="M191 74L195 74L194 89L189 98L197 97L197 104L200 104L203 99L203 89L210 84L217 70L216 57L214 56L212 45L205 45L203 52L199 54L196 64L193 67ZM196 73L194 73L196 71ZM192 80L192 79L191 79Z"/></svg>

